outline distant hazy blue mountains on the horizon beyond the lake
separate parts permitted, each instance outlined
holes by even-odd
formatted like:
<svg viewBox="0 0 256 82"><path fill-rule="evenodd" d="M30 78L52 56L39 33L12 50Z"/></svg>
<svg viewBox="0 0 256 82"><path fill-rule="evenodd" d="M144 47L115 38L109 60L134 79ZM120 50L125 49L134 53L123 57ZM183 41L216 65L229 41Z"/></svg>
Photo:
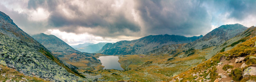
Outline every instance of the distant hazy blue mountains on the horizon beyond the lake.
<svg viewBox="0 0 256 82"><path fill-rule="evenodd" d="M97 44L92 44L92 45L88 45L88 46L84 46L84 47L73 47L73 46L72 47L81 52L95 53L95 52L99 51L106 44L107 44L107 42L100 42ZM78 46L78 45L76 45L76 46Z"/></svg>

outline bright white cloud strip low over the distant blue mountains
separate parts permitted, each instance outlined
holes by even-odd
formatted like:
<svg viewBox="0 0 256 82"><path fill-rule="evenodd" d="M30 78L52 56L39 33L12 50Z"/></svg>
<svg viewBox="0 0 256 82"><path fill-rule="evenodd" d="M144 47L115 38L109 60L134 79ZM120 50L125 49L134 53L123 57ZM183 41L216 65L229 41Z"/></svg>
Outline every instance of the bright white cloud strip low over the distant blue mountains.
<svg viewBox="0 0 256 82"><path fill-rule="evenodd" d="M65 41L69 45L78 45L81 43L89 42L89 43L99 43L99 42L117 42L121 40L134 40L139 39L140 37L131 37L131 36L118 36L116 38L108 38L108 37L101 37L101 36L95 36L88 33L83 34L75 34L75 33L67 33L62 32L58 29L49 29L44 34L52 34L56 37L60 38L61 40Z"/></svg>

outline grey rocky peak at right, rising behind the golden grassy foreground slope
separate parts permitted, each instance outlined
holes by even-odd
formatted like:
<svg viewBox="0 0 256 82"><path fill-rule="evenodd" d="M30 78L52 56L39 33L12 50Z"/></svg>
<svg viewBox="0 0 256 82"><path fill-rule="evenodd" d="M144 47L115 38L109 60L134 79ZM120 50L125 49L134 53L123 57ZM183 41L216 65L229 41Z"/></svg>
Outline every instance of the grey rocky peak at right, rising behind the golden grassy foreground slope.
<svg viewBox="0 0 256 82"><path fill-rule="evenodd" d="M217 46L235 37L246 29L247 27L240 24L222 25L205 34L204 37L192 42L191 45L193 45L193 48L195 49Z"/></svg>

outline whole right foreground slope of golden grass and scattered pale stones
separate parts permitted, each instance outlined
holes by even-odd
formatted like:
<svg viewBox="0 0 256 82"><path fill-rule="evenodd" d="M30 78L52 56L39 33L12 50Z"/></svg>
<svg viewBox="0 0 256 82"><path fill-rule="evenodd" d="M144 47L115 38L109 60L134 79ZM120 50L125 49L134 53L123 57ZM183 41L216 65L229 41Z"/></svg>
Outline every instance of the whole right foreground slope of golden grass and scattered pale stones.
<svg viewBox="0 0 256 82"><path fill-rule="evenodd" d="M254 26L250 27L255 29ZM255 82L256 55L255 30L248 29L248 36L238 43L234 42L231 50L220 52L211 59L200 63L196 67L175 76L174 81L206 81L206 82ZM239 40L240 41L240 40Z"/></svg>

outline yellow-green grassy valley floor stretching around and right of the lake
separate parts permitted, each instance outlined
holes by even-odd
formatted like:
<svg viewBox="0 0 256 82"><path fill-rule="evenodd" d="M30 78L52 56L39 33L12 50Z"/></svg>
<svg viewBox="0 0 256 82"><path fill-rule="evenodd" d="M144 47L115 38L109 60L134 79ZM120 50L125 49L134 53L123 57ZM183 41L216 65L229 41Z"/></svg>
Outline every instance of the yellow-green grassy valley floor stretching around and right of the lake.
<svg viewBox="0 0 256 82"><path fill-rule="evenodd" d="M98 81L118 81L133 80L142 82L156 82L172 80L176 76L191 67L212 57L213 49L210 47L205 49L193 50L193 55L186 55L185 52L179 51L173 55L168 54L151 54L151 55L114 55L119 56L119 63L124 68L119 70L83 70L78 71L86 78ZM94 57L109 56L97 54ZM97 79L99 78L99 79Z"/></svg>

